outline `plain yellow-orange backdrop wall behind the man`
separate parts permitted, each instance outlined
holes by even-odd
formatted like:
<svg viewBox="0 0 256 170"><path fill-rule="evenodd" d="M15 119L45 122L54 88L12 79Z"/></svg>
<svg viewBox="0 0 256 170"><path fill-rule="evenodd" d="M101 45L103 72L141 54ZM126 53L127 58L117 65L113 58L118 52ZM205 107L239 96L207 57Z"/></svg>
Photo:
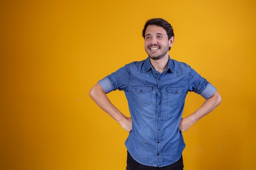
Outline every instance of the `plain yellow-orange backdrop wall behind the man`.
<svg viewBox="0 0 256 170"><path fill-rule="evenodd" d="M128 136L89 89L144 60L144 23L174 28L173 59L222 95L184 132L184 170L255 170L256 1L0 2L0 169L125 170ZM108 95L129 115L123 92ZM184 116L203 102L189 93Z"/></svg>

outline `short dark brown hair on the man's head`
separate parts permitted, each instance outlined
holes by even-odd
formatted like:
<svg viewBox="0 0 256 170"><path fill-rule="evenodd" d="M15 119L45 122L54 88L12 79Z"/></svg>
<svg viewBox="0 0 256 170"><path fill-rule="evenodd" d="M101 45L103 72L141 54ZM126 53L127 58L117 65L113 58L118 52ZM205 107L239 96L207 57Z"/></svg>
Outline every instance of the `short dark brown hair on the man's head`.
<svg viewBox="0 0 256 170"><path fill-rule="evenodd" d="M147 20L145 26L144 26L144 29L142 31L142 36L143 38L145 38L145 31L146 31L146 28L149 26L149 25L157 25L157 26L162 26L167 35L168 35L168 40L170 40L170 38L173 36L174 37L174 33L173 33L173 27L171 26L171 24L169 24L169 22L167 22L166 20L162 19L162 18L152 18L150 20Z"/></svg>

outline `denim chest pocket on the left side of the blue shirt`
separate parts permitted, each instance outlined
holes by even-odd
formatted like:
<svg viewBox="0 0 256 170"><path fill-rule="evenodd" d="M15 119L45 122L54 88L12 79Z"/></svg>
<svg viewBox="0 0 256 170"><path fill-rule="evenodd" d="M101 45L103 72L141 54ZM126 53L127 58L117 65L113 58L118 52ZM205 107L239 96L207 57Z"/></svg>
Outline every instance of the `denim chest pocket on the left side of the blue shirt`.
<svg viewBox="0 0 256 170"><path fill-rule="evenodd" d="M153 86L135 85L132 90L137 105L145 107L151 104Z"/></svg>

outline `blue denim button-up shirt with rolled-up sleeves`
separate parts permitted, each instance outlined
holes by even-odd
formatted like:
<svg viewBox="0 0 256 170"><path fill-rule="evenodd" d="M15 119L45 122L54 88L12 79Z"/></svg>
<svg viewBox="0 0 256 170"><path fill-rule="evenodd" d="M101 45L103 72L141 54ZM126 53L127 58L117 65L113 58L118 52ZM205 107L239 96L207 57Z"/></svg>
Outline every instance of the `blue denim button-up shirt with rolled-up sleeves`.
<svg viewBox="0 0 256 170"><path fill-rule="evenodd" d="M187 93L208 99L216 91L189 65L171 58L161 74L148 57L126 64L98 83L106 93L124 91L132 117L126 148L137 162L154 167L168 166L182 155L185 143L179 123Z"/></svg>

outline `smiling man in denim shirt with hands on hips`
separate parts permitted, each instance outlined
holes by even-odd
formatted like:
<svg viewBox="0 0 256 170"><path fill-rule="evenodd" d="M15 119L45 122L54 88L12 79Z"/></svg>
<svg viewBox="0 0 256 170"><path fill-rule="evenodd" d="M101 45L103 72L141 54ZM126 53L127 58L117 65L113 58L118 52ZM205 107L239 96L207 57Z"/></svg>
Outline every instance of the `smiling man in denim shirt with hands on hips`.
<svg viewBox="0 0 256 170"><path fill-rule="evenodd" d="M126 64L101 79L90 90L90 96L130 132L125 142L127 170L183 170L182 132L216 108L221 97L189 65L169 57L174 34L166 20L148 20L142 35L148 54L146 60ZM125 117L106 96L117 89L126 94L131 118ZM189 117L181 118L189 91L206 100Z"/></svg>

